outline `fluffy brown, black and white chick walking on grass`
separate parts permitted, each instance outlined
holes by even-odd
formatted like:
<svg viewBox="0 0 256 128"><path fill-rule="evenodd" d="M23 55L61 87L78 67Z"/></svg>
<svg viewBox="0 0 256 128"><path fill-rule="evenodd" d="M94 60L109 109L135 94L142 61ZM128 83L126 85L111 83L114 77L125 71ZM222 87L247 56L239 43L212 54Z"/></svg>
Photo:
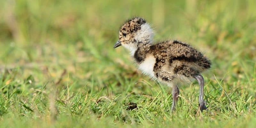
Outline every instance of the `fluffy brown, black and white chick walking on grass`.
<svg viewBox="0 0 256 128"><path fill-rule="evenodd" d="M126 20L118 36L114 48L123 46L128 49L144 75L172 88L172 111L176 111L179 86L193 79L199 84L199 108L201 111L207 109L201 73L211 68L211 60L191 45L178 40L153 43L154 31L142 17Z"/></svg>

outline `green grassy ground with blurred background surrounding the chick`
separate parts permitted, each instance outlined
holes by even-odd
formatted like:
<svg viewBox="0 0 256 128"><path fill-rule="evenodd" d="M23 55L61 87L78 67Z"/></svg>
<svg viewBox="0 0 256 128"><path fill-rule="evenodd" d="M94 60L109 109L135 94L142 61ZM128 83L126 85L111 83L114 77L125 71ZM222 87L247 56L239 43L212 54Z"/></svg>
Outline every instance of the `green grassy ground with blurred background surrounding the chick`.
<svg viewBox="0 0 256 128"><path fill-rule="evenodd" d="M256 2L0 1L0 127L255 127ZM142 76L119 27L143 16L155 41L178 39L213 62L208 111L196 82L170 89Z"/></svg>

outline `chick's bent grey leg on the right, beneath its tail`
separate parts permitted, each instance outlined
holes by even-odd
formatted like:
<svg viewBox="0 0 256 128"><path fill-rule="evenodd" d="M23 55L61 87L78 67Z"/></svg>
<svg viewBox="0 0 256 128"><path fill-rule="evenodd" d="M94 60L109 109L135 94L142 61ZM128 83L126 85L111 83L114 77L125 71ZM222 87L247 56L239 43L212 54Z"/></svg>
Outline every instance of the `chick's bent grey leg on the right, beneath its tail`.
<svg viewBox="0 0 256 128"><path fill-rule="evenodd" d="M194 75L194 78L199 84L199 108L202 112L203 110L207 109L207 107L205 106L206 102L204 101L204 77L196 74Z"/></svg>

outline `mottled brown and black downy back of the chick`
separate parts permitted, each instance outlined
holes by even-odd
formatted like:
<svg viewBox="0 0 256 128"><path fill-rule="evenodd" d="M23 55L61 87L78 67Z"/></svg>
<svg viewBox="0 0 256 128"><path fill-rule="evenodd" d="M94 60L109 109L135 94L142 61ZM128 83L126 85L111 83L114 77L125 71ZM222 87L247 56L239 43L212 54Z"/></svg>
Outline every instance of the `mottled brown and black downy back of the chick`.
<svg viewBox="0 0 256 128"><path fill-rule="evenodd" d="M165 41L151 45L150 50L156 58L154 71L168 71L191 77L211 68L211 61L189 44L180 41Z"/></svg>

